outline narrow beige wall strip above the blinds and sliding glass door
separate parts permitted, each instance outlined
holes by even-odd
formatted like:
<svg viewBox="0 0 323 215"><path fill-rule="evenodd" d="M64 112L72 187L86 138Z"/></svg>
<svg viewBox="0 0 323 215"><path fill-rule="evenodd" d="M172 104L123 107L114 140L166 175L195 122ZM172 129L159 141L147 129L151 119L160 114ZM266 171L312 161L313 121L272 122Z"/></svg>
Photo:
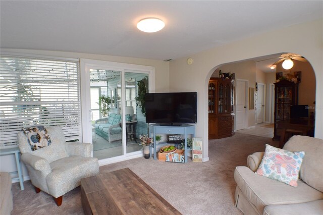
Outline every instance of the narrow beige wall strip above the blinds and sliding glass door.
<svg viewBox="0 0 323 215"><path fill-rule="evenodd" d="M94 55L89 53L76 53L76 52L63 52L63 51L45 51L45 50L27 50L27 49L10 49L2 48L3 52L15 53L29 53L33 55L45 55L63 58L85 58L101 61L112 61L118 63L137 64L155 67L155 91L168 92L169 91L169 62L141 59L141 58L128 58L118 56Z"/></svg>

